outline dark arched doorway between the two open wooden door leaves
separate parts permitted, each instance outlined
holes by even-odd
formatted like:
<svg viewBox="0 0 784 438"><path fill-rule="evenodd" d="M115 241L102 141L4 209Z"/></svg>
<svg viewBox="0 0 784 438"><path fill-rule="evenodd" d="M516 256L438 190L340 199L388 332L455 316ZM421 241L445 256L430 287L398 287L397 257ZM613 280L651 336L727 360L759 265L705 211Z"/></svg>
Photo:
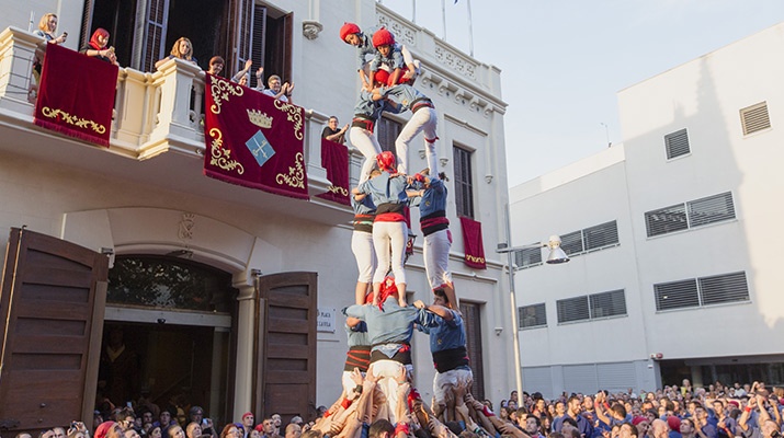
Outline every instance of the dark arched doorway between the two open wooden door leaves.
<svg viewBox="0 0 784 438"><path fill-rule="evenodd" d="M99 411L133 402L137 414L155 416L197 405L215 424L230 419L238 292L230 274L186 256L116 257L109 272Z"/></svg>

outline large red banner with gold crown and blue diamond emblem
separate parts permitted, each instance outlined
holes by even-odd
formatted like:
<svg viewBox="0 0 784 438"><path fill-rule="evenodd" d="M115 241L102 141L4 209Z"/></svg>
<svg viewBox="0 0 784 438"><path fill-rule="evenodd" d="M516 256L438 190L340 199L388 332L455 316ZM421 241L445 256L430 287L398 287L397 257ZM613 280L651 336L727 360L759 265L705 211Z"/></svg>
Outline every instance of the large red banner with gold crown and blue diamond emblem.
<svg viewBox="0 0 784 438"><path fill-rule="evenodd" d="M204 174L309 199L303 108L207 73Z"/></svg>

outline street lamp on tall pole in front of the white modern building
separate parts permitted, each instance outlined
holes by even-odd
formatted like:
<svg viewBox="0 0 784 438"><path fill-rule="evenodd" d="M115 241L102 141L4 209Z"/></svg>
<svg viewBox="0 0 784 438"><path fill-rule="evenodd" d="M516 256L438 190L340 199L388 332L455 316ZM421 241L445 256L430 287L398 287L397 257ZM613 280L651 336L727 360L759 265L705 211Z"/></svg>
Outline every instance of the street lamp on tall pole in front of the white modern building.
<svg viewBox="0 0 784 438"><path fill-rule="evenodd" d="M549 240L544 243L533 243L523 246L511 246L512 242L512 226L511 218L509 215L509 204L507 204L507 243L499 243L496 252L498 254L507 254L507 268L509 270L509 300L512 306L512 342L514 348L514 378L516 380L518 388L518 400L521 401L523 396L523 368L520 358L520 326L518 325L518 299L514 296L514 268L513 256L515 251L531 250L534 247L549 247L549 254L545 263L554 265L560 263L569 262L569 256L566 255L564 250L560 249L560 238L558 235L550 235Z"/></svg>

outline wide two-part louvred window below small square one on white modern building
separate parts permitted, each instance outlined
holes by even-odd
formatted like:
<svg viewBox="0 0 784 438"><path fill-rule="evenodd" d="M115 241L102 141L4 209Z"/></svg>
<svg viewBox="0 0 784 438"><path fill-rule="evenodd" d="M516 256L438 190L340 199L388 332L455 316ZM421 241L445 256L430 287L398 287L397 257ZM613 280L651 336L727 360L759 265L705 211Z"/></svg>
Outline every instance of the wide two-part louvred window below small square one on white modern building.
<svg viewBox="0 0 784 438"><path fill-rule="evenodd" d="M660 208L645 214L648 237L688 230L708 223L735 219L735 205L730 192Z"/></svg>

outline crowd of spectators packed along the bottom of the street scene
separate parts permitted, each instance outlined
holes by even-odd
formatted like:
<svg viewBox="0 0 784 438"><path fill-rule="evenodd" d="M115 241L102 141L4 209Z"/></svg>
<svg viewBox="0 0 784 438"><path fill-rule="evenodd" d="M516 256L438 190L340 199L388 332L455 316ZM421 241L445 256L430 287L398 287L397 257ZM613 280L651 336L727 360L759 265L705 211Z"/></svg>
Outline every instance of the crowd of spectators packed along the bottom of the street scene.
<svg viewBox="0 0 784 438"><path fill-rule="evenodd" d="M762 382L726 387L716 382L694 388L684 380L680 387L639 394L629 389L620 393L564 393L552 400L537 392L518 397L512 391L495 413L490 401L468 397L466 405L477 422L441 425L435 418L413 418L408 430L398 427L387 438L781 438L784 411L784 388L766 388ZM409 397L409 403L414 403L412 412L418 415L427 412L416 407L421 401ZM310 423L294 416L282 426L279 414L257 422L253 413L247 412L237 423L218 427L200 406L185 413L181 407L157 407L141 400L133 407L95 411L91 427L73 422L43 430L37 438L321 438L338 436L334 425L319 429L332 413L321 407L319 417L308 418ZM371 425L364 425L352 434L364 438L368 430L373 430ZM25 433L16 438L33 437Z"/></svg>

